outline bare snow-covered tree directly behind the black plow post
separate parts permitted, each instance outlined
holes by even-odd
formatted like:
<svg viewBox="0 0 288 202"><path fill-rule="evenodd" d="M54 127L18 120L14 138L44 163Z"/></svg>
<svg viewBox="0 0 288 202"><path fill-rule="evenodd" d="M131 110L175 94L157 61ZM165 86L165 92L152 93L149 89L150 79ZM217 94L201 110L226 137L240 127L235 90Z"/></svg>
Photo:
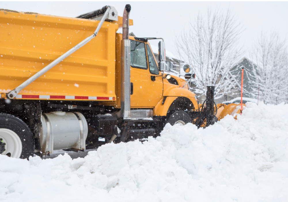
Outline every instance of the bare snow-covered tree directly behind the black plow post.
<svg viewBox="0 0 288 202"><path fill-rule="evenodd" d="M233 94L240 88L230 73L233 64L242 56L238 38L242 28L228 10L207 11L198 15L196 22L190 22L188 31L176 39L179 56L187 61L196 73L196 85L203 94L206 86L215 86L215 98Z"/></svg>

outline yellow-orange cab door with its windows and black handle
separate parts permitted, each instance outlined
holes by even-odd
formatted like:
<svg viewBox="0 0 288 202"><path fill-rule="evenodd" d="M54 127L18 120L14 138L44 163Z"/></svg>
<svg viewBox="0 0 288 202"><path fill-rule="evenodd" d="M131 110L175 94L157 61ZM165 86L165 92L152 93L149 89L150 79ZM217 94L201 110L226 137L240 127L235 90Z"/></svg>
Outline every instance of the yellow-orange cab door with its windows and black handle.
<svg viewBox="0 0 288 202"><path fill-rule="evenodd" d="M151 76L159 75L159 70L149 43L131 40L130 60L131 108L154 108L162 99L163 80L151 80Z"/></svg>

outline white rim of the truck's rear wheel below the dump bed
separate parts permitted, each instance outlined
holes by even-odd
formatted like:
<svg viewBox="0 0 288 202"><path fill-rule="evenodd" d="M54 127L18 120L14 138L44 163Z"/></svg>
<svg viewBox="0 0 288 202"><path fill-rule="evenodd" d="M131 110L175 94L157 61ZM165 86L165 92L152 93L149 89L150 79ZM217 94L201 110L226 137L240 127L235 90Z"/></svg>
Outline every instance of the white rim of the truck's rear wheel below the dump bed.
<svg viewBox="0 0 288 202"><path fill-rule="evenodd" d="M20 158L22 153L22 142L19 136L12 130L7 128L0 128L0 138L2 138L2 142L5 142L5 151L2 155L6 155L8 153L11 154L11 157Z"/></svg>

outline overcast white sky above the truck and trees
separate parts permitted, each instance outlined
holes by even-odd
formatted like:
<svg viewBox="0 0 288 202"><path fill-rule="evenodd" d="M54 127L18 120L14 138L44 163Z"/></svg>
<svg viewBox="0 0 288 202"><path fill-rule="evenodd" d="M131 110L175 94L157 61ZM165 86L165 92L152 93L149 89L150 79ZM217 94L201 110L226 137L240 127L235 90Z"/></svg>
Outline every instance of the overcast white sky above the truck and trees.
<svg viewBox="0 0 288 202"><path fill-rule="evenodd" d="M49 1L49 2L0 2L0 8L23 12L36 12L57 16L75 17L105 5L114 6L118 15L123 15L126 4L132 9L130 18L134 25L130 26L137 37L162 37L166 43L166 49L174 51L175 37L179 35L185 26L195 20L198 13L205 13L211 9L228 8L242 23L245 31L242 33L239 45L243 45L248 56L248 49L263 30L264 32L277 31L281 37L286 37L288 32L288 2L131 2L131 1ZM150 42L157 45L157 42ZM244 57L243 56L243 57Z"/></svg>

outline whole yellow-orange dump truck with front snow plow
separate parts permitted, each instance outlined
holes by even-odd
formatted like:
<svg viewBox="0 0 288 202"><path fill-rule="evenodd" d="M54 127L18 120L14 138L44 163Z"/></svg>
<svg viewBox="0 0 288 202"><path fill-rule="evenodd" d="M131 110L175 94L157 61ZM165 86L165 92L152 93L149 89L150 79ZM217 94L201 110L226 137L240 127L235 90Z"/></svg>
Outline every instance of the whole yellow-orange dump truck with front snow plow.
<svg viewBox="0 0 288 202"><path fill-rule="evenodd" d="M209 126L239 110L218 109L213 86L200 108L189 65L185 79L164 74L164 40L157 63L148 42L156 38L128 36L130 9L77 18L0 9L0 154L97 148L158 136L166 123Z"/></svg>

